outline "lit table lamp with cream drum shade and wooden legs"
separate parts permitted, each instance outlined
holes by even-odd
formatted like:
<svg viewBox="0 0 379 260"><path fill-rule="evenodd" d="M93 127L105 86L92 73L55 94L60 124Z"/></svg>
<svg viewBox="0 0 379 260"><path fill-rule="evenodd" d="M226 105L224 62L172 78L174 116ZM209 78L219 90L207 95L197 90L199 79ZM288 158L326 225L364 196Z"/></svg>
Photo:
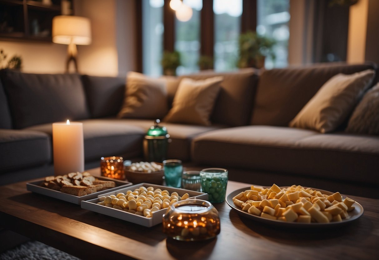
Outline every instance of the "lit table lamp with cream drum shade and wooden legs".
<svg viewBox="0 0 379 260"><path fill-rule="evenodd" d="M74 62L75 72L78 73L76 45L91 44L91 23L89 19L80 16L55 16L52 34L53 42L68 44L66 73L69 71L70 61Z"/></svg>

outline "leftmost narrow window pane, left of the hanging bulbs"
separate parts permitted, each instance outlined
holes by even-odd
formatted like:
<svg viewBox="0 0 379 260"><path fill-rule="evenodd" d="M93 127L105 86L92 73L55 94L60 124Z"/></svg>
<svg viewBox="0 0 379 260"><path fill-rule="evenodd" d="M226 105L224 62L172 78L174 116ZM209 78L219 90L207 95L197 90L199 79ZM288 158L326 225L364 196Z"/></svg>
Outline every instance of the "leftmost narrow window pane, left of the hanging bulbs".
<svg viewBox="0 0 379 260"><path fill-rule="evenodd" d="M143 72L152 76L162 74L163 4L163 0L142 1Z"/></svg>

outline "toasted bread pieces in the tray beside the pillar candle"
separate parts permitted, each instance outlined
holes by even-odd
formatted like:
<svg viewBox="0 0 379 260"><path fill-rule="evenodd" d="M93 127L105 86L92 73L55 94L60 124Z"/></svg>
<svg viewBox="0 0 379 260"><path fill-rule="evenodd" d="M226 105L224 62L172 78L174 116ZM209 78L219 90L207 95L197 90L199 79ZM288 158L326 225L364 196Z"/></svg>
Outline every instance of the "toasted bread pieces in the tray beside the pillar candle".
<svg viewBox="0 0 379 260"><path fill-rule="evenodd" d="M116 183L113 181L98 180L89 174L89 172L70 172L63 176L45 177L41 186L74 196L84 196L97 191L114 188Z"/></svg>

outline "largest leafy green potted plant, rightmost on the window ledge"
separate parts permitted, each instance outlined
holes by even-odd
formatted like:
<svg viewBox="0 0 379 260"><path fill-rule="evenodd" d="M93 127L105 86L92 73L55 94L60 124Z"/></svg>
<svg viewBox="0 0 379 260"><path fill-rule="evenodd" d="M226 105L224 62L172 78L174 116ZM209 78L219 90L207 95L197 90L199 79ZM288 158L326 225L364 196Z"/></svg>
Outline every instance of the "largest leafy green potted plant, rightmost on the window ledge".
<svg viewBox="0 0 379 260"><path fill-rule="evenodd" d="M275 41L266 36L262 36L253 31L242 33L239 39L238 67L256 67L260 69L265 64L265 57L270 56L275 59Z"/></svg>

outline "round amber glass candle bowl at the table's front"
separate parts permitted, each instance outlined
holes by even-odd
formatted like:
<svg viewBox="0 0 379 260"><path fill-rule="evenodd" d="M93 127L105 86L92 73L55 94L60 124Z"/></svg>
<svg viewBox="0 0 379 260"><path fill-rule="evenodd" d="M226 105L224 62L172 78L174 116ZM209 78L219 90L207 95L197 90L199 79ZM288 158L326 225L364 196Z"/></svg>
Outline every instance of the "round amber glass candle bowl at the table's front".
<svg viewBox="0 0 379 260"><path fill-rule="evenodd" d="M214 238L220 233L218 211L206 200L180 200L167 208L163 216L163 233L182 241Z"/></svg>

